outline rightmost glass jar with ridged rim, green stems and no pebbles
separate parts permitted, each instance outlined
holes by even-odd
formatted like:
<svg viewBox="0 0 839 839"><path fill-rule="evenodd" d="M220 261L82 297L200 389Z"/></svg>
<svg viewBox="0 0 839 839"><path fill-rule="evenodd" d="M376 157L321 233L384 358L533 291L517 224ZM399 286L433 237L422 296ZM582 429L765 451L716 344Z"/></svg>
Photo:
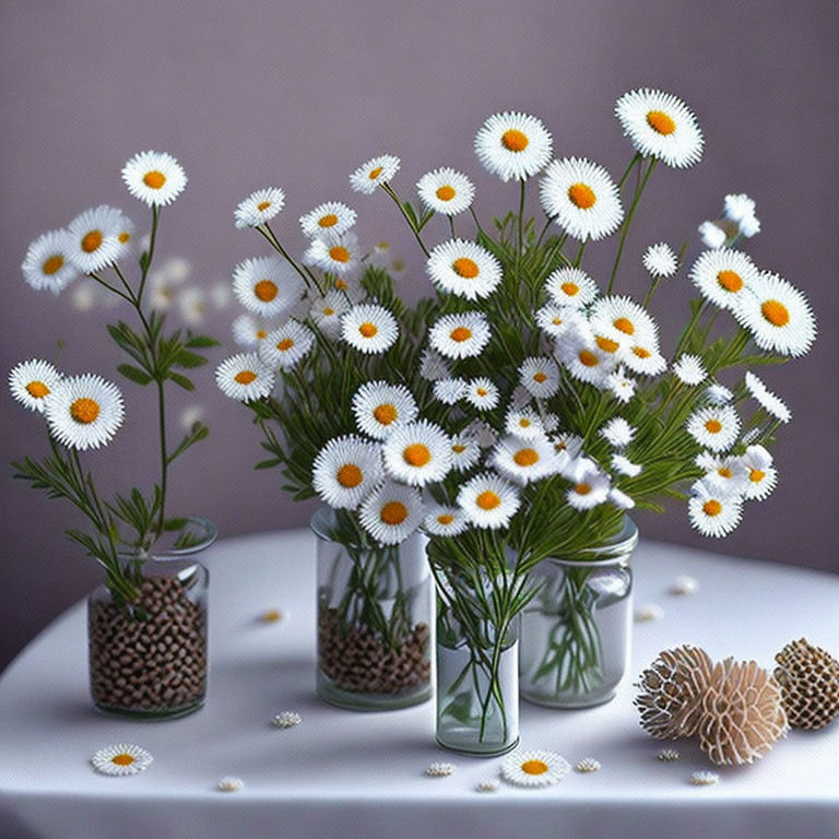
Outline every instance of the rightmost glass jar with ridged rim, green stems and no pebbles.
<svg viewBox="0 0 839 839"><path fill-rule="evenodd" d="M589 708L614 698L629 666L633 572L638 529L575 559L540 563L539 593L521 618L521 696L552 708Z"/></svg>

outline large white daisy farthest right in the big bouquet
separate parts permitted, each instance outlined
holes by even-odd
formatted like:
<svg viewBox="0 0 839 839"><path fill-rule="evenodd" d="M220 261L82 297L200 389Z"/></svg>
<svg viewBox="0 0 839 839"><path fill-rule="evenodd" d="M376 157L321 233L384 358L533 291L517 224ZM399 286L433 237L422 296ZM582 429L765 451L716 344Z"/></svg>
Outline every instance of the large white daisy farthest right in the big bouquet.
<svg viewBox="0 0 839 839"><path fill-rule="evenodd" d="M816 339L816 320L807 298L778 274L764 271L737 296L734 317L770 353L804 355Z"/></svg>

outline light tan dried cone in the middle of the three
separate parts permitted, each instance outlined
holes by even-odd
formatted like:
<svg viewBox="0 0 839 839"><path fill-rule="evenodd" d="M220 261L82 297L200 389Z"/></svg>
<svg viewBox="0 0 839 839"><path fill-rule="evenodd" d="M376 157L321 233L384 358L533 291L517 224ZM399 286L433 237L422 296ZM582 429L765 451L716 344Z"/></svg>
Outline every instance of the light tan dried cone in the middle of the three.
<svg viewBox="0 0 839 839"><path fill-rule="evenodd" d="M755 661L725 659L713 669L697 735L712 763L751 764L787 733L781 686Z"/></svg>

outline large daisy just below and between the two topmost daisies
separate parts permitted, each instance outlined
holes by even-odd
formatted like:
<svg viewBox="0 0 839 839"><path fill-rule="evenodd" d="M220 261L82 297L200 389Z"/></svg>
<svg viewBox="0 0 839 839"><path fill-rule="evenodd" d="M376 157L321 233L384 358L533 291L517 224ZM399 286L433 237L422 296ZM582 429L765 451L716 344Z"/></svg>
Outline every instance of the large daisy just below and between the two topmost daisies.
<svg viewBox="0 0 839 839"><path fill-rule="evenodd" d="M545 214L581 241L608 236L624 218L612 176L582 157L554 161L540 182L539 193Z"/></svg>

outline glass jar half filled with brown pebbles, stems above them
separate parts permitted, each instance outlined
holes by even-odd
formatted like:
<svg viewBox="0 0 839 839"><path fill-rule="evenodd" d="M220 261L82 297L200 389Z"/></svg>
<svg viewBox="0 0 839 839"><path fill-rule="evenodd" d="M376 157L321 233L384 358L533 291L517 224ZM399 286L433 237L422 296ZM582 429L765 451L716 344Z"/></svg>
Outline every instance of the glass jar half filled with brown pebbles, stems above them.
<svg viewBox="0 0 839 839"><path fill-rule="evenodd" d="M318 537L321 699L358 711L405 708L432 696L433 583L426 537L359 547L339 537L333 510L311 518Z"/></svg>

